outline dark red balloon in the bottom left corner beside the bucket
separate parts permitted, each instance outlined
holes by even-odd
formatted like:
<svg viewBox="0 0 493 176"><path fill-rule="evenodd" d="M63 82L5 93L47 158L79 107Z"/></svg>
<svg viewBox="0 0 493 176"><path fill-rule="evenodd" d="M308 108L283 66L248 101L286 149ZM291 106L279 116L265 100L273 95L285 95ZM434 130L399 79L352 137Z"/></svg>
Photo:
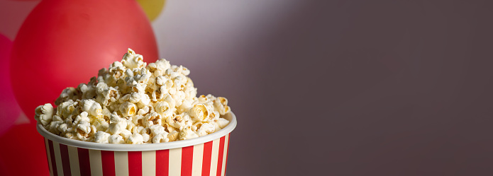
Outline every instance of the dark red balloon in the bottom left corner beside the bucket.
<svg viewBox="0 0 493 176"><path fill-rule="evenodd" d="M43 136L31 124L12 127L0 141L0 175L49 175Z"/></svg>

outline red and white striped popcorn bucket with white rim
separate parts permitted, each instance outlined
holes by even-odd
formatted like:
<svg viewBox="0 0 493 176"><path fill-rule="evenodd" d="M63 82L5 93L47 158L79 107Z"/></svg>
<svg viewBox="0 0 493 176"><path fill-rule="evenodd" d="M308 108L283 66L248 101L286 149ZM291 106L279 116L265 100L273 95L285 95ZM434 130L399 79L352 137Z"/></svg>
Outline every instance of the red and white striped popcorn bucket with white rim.
<svg viewBox="0 0 493 176"><path fill-rule="evenodd" d="M184 141L146 144L94 143L67 139L46 131L50 175L209 175L226 174L230 133L236 127L233 112L223 129Z"/></svg>

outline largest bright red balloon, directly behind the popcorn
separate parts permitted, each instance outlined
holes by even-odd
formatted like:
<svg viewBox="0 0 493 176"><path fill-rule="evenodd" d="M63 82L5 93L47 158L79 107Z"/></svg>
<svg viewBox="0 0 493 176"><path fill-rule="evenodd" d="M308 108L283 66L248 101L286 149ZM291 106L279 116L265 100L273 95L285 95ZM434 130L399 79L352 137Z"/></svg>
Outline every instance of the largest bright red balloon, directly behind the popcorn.
<svg viewBox="0 0 493 176"><path fill-rule="evenodd" d="M128 48L144 61L157 59L153 29L135 0L41 1L13 42L11 82L18 104L33 118L35 107L89 82L99 69L121 61Z"/></svg>

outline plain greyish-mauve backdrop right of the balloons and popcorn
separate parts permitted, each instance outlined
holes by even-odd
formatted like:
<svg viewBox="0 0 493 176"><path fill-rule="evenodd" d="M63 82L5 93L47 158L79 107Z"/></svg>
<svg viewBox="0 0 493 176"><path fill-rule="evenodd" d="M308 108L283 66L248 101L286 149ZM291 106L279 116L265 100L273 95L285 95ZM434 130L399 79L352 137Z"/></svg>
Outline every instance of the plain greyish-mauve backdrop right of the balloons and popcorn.
<svg viewBox="0 0 493 176"><path fill-rule="evenodd" d="M491 1L168 1L160 55L238 117L228 175L492 175Z"/></svg>

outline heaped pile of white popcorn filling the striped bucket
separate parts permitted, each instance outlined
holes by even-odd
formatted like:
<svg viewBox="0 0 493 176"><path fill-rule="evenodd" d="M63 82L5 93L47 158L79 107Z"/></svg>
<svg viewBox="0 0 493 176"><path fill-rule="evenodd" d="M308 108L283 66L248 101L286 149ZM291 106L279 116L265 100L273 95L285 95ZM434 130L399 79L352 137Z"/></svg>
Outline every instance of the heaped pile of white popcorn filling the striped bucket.
<svg viewBox="0 0 493 176"><path fill-rule="evenodd" d="M228 100L196 97L184 66L147 64L132 49L89 83L65 88L35 119L52 134L97 143L163 143L214 133L229 123Z"/></svg>

